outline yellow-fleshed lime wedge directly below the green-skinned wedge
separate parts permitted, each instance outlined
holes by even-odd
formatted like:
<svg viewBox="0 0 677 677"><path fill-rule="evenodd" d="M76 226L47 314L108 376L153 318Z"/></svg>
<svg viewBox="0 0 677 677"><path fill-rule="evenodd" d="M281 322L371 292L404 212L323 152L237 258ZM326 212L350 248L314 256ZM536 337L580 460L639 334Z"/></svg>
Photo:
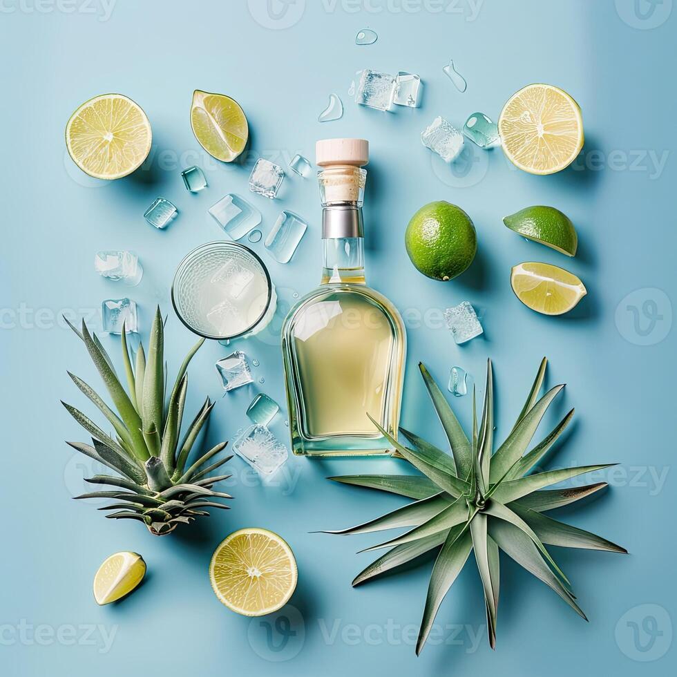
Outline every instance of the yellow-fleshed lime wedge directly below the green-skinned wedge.
<svg viewBox="0 0 677 677"><path fill-rule="evenodd" d="M510 283L519 301L544 315L569 312L588 293L575 275L548 263L520 263Z"/></svg>

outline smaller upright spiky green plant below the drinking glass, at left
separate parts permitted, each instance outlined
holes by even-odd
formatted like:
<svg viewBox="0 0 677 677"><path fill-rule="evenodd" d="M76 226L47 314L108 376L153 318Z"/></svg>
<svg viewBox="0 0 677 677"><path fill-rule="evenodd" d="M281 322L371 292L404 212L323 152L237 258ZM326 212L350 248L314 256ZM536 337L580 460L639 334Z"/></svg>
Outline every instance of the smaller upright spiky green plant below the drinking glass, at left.
<svg viewBox="0 0 677 677"><path fill-rule="evenodd" d="M213 499L232 497L212 487L230 475L213 476L209 473L232 457L222 458L203 467L227 443L217 444L188 465L193 445L214 406L209 398L180 439L188 387L186 370L204 339L200 339L184 359L165 405L164 325L159 307L151 327L148 358L143 345L140 345L134 368L122 327L122 360L128 391L117 378L113 362L96 334L90 334L84 321L82 332L73 325L70 327L84 341L111 395L117 414L89 385L68 372L75 385L104 414L115 432L107 435L82 412L62 401L73 418L92 435L93 441L93 446L79 442L66 444L119 473L119 476L95 475L85 480L90 484L115 487L113 490L93 491L75 498L113 499L115 503L112 505L99 508L117 511L106 517L139 520L152 534L158 536L171 533L178 524L190 524L196 517L209 516L204 508L227 508Z"/></svg>

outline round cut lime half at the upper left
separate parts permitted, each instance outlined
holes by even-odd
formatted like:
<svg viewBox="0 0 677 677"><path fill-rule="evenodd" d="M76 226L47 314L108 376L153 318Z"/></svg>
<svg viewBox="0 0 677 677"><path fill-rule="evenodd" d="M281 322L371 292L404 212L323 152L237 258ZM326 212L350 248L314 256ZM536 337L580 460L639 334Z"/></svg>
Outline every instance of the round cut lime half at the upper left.
<svg viewBox="0 0 677 677"><path fill-rule="evenodd" d="M119 179L138 169L151 151L151 138L146 113L122 94L89 99L66 124L70 157L97 179Z"/></svg>

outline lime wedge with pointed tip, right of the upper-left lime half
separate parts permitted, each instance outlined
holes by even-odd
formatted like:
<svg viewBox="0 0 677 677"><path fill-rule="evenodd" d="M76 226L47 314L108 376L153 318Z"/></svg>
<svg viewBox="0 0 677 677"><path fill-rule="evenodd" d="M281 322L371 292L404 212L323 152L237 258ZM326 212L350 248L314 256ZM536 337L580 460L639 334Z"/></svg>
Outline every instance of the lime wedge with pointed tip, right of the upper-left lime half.
<svg viewBox="0 0 677 677"><path fill-rule="evenodd" d="M245 111L235 99L199 89L193 92L191 127L200 146L222 162L235 160L249 138Z"/></svg>

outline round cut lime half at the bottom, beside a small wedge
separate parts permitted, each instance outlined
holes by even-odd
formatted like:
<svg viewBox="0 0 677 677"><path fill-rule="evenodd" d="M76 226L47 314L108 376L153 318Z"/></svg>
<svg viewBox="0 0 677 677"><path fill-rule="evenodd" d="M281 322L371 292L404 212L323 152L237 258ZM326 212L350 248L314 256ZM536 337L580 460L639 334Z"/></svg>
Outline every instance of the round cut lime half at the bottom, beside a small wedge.
<svg viewBox="0 0 677 677"><path fill-rule="evenodd" d="M242 616L265 616L287 604L296 588L296 560L287 543L266 529L247 528L223 540L209 564L219 600Z"/></svg>

